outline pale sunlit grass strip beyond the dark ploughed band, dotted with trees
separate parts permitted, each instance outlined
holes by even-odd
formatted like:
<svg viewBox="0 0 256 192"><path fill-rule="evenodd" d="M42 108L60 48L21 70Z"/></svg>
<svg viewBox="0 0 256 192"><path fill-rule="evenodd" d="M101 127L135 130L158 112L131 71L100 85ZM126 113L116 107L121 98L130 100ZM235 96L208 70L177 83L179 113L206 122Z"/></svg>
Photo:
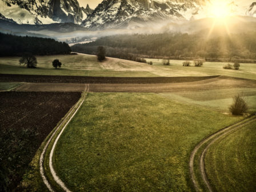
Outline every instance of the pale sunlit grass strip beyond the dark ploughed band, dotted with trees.
<svg viewBox="0 0 256 192"><path fill-rule="evenodd" d="M62 62L62 68L55 70L51 65L54 59ZM228 75L256 79L256 64L241 63L240 70L225 70L226 63L206 62L202 67L183 67L183 61L171 60L170 66L163 66L161 59L147 59L153 65L138 63L122 59L108 58L105 62L98 62L93 55L53 55L37 57L38 69L26 69L19 66L18 57L4 57L0 59L0 73L2 74L42 74L42 75L78 75L105 77L189 77Z"/></svg>

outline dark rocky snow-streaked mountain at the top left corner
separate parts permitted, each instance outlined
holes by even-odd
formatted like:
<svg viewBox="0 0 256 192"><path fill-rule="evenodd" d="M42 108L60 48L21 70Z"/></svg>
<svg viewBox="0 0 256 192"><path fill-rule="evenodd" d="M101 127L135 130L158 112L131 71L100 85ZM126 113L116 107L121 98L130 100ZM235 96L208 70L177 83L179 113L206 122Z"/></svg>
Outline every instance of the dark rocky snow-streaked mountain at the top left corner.
<svg viewBox="0 0 256 192"><path fill-rule="evenodd" d="M91 12L77 0L0 0L0 13L19 24L81 23Z"/></svg>

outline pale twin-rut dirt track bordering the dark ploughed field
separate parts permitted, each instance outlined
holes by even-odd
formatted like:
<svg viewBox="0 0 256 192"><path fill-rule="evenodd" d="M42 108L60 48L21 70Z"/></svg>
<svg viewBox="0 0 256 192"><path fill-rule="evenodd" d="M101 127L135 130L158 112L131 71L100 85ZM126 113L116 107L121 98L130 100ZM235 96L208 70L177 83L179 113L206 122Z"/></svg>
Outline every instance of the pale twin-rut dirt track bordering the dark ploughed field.
<svg viewBox="0 0 256 192"><path fill-rule="evenodd" d="M85 87L85 93L87 93L89 91L89 85L87 84ZM43 162L45 161L45 154L46 154L46 150L51 150L50 151L50 157L49 157L49 167L50 167L50 172L51 175L53 176L54 181L62 187L62 189L64 191L70 191L65 183L62 182L62 180L58 177L57 173L54 170L53 167L53 154L54 154L54 150L55 147L57 145L58 139L61 137L61 134L63 133L63 130L65 130L66 126L69 124L69 122L71 121L71 119L73 119L74 115L77 113L77 111L80 109L82 103L85 101L86 95L83 95L82 97L82 101L79 100L77 102L77 104L73 107L72 110L70 110L70 112L66 115L66 117L62 120L62 122L59 124L59 126L55 129L54 133L51 135L51 137L49 138L49 140L47 141L45 147L43 148L43 151L40 155L40 161L39 161L39 167L40 167L40 174L41 177L43 179L43 182L45 183L45 185L47 186L47 188L49 189L49 191L54 192L53 187L50 185L48 179L46 178L45 175L45 170L43 168ZM71 115L71 117L70 117ZM66 122L67 121L67 122ZM61 128L62 127L62 128ZM59 129L62 129L61 132L58 134L57 138L54 141L53 147L51 149L48 149L50 142L53 140L53 137L55 136L55 134L57 133L57 131Z"/></svg>

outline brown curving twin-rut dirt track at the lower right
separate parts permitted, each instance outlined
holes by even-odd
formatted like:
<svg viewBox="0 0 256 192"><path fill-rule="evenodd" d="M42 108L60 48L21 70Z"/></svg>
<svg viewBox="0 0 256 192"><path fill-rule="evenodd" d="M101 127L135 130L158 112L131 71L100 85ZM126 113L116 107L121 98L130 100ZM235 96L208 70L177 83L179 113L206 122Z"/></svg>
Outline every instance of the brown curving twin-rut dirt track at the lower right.
<svg viewBox="0 0 256 192"><path fill-rule="evenodd" d="M222 137L224 137L227 134L230 134L231 132L245 126L248 123L251 123L253 121L256 121L256 115L253 115L253 117L244 119L241 122L238 122L232 126L226 127L225 129L219 130L217 133L214 133L213 135L210 135L210 137L203 139L203 141L201 141L200 143L198 143L197 146L195 146L194 150L192 151L191 155L190 155L190 161L189 161L189 168L190 168L190 175L191 175L191 179L194 183L194 187L197 191L201 191L201 187L198 185L198 182L195 178L195 171L194 171L194 158L195 155L197 154L198 150L201 149L201 147L203 146L204 149L202 151L202 154L200 155L200 166L199 169L201 171L201 177L203 179L203 182L205 183L205 185L207 186L207 189L212 192L213 189L211 188L210 182L207 179L207 175L205 172L205 154L207 152L207 150L209 149L209 147L211 145L213 145L213 143L215 141L217 141L218 139L221 139ZM209 143L208 143L209 142ZM206 146L204 146L206 145Z"/></svg>

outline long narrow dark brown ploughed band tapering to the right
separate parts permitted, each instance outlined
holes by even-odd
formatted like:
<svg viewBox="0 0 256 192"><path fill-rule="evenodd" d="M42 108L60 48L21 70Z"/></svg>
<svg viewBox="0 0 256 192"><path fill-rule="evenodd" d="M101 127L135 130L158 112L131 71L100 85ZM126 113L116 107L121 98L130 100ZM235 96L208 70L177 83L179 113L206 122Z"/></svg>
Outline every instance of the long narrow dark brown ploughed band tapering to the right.
<svg viewBox="0 0 256 192"><path fill-rule="evenodd" d="M30 83L179 83L194 82L210 77L81 77L62 75L12 75L0 74L0 82L30 82Z"/></svg>

